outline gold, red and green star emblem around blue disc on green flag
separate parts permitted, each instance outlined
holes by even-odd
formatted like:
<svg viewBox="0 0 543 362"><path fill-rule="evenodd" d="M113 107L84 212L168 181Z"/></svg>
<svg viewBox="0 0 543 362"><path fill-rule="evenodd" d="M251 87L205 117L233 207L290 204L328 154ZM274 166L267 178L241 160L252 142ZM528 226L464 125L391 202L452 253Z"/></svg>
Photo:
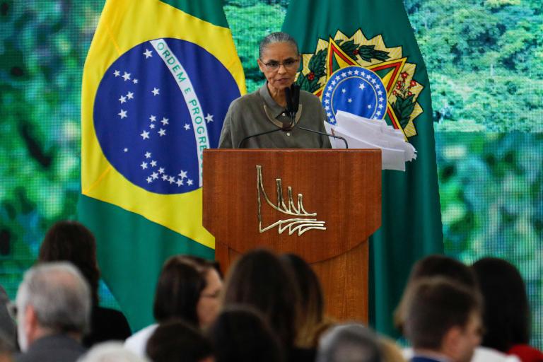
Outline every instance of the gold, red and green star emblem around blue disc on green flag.
<svg viewBox="0 0 543 362"><path fill-rule="evenodd" d="M387 123L401 129L406 139L416 136L414 121L424 112L417 98L424 86L414 79L416 64L407 62L402 47L387 47L381 35L367 39L361 29L351 37L337 30L333 38L319 39L313 54L302 54L302 61L296 83L321 99L327 81L338 69L362 66L373 71L385 86Z"/></svg>

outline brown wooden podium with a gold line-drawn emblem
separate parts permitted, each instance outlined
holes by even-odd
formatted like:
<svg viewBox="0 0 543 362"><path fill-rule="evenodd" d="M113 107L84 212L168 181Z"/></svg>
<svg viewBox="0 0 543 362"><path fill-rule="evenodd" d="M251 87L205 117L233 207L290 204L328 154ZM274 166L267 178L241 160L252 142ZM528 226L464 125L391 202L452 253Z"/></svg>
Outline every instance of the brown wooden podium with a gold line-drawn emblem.
<svg viewBox="0 0 543 362"><path fill-rule="evenodd" d="M368 321L380 150L209 149L204 175L203 223L223 270L255 247L296 253L319 276L328 315Z"/></svg>

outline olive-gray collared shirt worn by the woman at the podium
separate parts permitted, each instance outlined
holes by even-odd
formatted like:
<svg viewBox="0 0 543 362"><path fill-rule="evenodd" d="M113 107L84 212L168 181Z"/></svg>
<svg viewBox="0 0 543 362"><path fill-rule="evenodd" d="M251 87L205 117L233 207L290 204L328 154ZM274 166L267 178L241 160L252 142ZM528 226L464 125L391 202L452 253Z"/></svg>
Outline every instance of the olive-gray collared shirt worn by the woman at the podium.
<svg viewBox="0 0 543 362"><path fill-rule="evenodd" d="M291 131L278 131L247 139L241 148L330 148L328 136L305 131L305 127L319 132L325 131L326 113L319 98L300 91L300 105L295 117L296 126ZM218 148L238 148L247 136L281 129L291 119L284 107L277 104L267 85L257 91L234 100L224 119Z"/></svg>

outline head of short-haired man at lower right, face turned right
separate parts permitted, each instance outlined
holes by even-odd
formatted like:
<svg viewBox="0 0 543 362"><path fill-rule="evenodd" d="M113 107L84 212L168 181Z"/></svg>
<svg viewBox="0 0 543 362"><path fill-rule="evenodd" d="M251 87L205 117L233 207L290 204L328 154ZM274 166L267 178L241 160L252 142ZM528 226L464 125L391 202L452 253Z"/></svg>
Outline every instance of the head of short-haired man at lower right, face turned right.
<svg viewBox="0 0 543 362"><path fill-rule="evenodd" d="M481 341L479 291L436 276L410 284L404 298L404 334L415 354L471 360Z"/></svg>

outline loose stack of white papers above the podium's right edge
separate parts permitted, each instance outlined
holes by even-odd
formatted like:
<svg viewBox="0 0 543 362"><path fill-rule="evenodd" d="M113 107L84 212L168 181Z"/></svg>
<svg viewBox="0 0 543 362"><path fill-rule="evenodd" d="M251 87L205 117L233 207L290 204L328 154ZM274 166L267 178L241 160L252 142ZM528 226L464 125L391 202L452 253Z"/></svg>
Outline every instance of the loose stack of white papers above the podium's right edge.
<svg viewBox="0 0 543 362"><path fill-rule="evenodd" d="M383 170L405 171L405 163L416 158L416 150L405 141L404 133L383 119L359 117L340 110L336 122L336 125L325 122L327 132L344 137L349 148L380 148ZM330 137L330 142L332 148L345 148L341 139Z"/></svg>

